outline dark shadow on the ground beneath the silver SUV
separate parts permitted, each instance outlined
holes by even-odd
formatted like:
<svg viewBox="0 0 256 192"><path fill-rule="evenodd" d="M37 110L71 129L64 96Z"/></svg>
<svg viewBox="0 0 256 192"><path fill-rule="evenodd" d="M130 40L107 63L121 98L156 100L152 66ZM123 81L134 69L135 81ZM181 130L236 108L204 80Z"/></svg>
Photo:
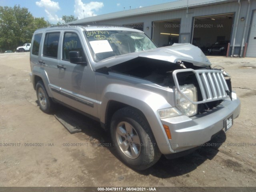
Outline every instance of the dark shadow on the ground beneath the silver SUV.
<svg viewBox="0 0 256 192"><path fill-rule="evenodd" d="M54 113L62 114L67 118L73 126L79 127L84 135L75 134L81 140L88 140L92 144L98 144L108 148L108 150L116 157L116 151L111 144L110 134L105 132L100 123L88 118L78 112L70 110L64 106L58 106L58 110ZM206 160L214 158L218 153L218 148L226 140L226 134L222 130L211 141L203 144L198 150L192 152L187 156L168 160L163 155L160 160L152 167L144 171L136 171L142 175L153 175L158 178L171 178L180 175L186 175L190 177L190 172L195 170L200 164L203 164Z"/></svg>

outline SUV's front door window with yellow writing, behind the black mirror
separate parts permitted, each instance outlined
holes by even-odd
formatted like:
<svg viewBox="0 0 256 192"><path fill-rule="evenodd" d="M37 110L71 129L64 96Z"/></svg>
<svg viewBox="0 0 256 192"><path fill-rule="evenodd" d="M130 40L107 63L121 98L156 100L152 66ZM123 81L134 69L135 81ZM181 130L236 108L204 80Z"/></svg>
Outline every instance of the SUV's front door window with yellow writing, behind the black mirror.
<svg viewBox="0 0 256 192"><path fill-rule="evenodd" d="M80 56L86 61L84 50L82 48L81 41L76 33L67 32L64 34L63 47L62 47L62 59L69 61L69 52L79 51Z"/></svg>

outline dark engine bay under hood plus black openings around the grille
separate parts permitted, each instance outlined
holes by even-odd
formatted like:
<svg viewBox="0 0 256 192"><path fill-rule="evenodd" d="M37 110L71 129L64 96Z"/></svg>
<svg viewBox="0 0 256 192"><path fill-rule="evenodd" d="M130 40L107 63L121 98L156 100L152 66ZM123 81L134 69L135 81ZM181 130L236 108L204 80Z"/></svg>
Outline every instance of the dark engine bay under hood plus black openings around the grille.
<svg viewBox="0 0 256 192"><path fill-rule="evenodd" d="M194 66L190 62L184 62L184 61L178 61L177 63L170 63L170 62L156 60L152 58L138 57L138 58L134 58L132 60L123 62L121 64L112 66L108 68L108 71L149 80L150 82L153 82L160 86L175 88L172 72L174 70L186 69L186 68L191 68L194 70L212 69L210 68L210 66L207 66L207 68L203 68L200 66ZM212 69L212 70L216 70L216 69ZM198 100L202 100L202 93L199 88L198 80L196 79L196 76L193 72L178 73L177 78L180 86L186 85L186 84L194 84L194 86L197 87ZM230 79L226 81L231 90ZM221 102L222 100L215 100L211 102L198 104L198 114L204 113L207 110L211 110Z"/></svg>

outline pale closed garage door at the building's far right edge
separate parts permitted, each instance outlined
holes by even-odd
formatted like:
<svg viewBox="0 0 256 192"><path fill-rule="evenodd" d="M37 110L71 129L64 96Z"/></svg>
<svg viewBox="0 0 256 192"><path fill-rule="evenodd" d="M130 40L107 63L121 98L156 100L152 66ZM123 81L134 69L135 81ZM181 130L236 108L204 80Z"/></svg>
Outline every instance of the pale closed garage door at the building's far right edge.
<svg viewBox="0 0 256 192"><path fill-rule="evenodd" d="M246 57L256 57L256 11L254 11Z"/></svg>

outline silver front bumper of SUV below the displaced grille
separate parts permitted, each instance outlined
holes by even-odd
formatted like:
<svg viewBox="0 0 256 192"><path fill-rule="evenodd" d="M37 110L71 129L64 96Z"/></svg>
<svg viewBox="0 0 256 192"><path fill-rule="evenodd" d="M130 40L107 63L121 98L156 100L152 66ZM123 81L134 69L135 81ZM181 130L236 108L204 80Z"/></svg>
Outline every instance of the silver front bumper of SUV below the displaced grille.
<svg viewBox="0 0 256 192"><path fill-rule="evenodd" d="M232 114L233 118L238 117L240 114L240 100L236 98L236 94L233 93L233 95L232 101L225 99L216 108L204 114L193 117L182 115L162 119L162 124L170 128L172 139L169 142L172 150L175 153L182 152L204 144L224 128L226 118Z"/></svg>

